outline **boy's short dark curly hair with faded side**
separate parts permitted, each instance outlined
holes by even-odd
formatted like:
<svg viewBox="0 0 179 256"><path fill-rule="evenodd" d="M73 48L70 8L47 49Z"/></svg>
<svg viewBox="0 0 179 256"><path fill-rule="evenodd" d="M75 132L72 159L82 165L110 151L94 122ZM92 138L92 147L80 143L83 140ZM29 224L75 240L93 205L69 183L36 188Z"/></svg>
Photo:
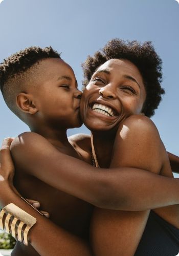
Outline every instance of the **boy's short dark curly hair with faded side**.
<svg viewBox="0 0 179 256"><path fill-rule="evenodd" d="M6 104L9 109L20 119L20 111L16 106L16 95L25 92L27 86L31 86L37 77L33 77L35 64L47 58L60 58L60 54L52 47L29 47L21 50L0 64L0 86Z"/></svg>

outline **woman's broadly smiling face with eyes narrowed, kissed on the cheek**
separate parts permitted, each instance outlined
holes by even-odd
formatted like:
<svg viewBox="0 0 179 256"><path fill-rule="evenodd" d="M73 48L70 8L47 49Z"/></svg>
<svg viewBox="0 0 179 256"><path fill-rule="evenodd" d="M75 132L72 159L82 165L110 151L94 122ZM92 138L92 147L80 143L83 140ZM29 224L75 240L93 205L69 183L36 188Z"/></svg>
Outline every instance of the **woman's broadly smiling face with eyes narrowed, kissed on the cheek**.
<svg viewBox="0 0 179 256"><path fill-rule="evenodd" d="M110 59L94 73L81 99L81 117L91 131L116 130L140 114L146 98L138 68L126 59Z"/></svg>

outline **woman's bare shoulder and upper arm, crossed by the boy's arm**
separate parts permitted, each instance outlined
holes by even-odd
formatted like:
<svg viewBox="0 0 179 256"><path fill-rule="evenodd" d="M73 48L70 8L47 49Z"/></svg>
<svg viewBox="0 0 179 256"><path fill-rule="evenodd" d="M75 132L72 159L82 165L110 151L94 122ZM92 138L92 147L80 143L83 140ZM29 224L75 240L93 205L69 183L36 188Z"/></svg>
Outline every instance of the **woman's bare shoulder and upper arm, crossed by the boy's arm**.
<svg viewBox="0 0 179 256"><path fill-rule="evenodd" d="M116 136L112 167L136 167L160 173L164 157L165 148L151 120L135 116L124 121ZM145 181L147 183L148 180ZM140 191L140 185L136 189ZM146 195L142 191L141 197L145 201ZM134 255L148 215L149 210L131 212L96 209L92 221L95 253L103 256Z"/></svg>

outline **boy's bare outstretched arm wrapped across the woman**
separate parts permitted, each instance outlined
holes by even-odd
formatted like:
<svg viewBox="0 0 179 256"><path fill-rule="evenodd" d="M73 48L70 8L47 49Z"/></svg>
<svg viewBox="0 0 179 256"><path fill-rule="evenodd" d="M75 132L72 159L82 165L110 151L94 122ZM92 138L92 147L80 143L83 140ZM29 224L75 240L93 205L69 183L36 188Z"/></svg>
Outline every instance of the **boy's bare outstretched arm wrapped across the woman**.
<svg viewBox="0 0 179 256"><path fill-rule="evenodd" d="M11 152L18 169L97 207L144 210L179 201L177 179L160 177L138 168L135 172L128 167L120 167L120 172L119 168L110 172L102 168L97 170L60 153L48 140L35 133L24 133L16 138ZM139 186L140 191L136 189ZM141 191L146 195L145 201ZM159 196L155 197L156 194Z"/></svg>

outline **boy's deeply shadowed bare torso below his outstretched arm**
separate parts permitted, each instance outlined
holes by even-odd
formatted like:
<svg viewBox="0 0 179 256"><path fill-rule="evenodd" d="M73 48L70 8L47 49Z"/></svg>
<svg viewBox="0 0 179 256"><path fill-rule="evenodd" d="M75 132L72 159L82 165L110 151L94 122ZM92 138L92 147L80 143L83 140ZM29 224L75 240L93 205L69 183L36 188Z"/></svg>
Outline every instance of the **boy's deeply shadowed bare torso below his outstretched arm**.
<svg viewBox="0 0 179 256"><path fill-rule="evenodd" d="M92 205L24 172L16 172L14 184L21 195L39 201L40 209L48 211L55 224L77 236L88 238Z"/></svg>

